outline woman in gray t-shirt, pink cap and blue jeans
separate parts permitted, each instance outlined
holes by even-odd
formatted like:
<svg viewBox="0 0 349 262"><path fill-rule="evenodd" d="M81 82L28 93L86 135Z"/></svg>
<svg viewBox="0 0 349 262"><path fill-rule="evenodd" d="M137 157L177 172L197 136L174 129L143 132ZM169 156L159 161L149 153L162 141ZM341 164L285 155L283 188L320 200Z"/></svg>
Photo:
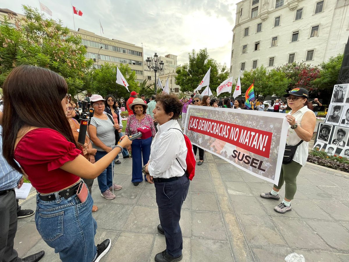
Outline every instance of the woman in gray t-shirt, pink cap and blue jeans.
<svg viewBox="0 0 349 262"><path fill-rule="evenodd" d="M93 142L92 147L97 149L95 160L98 161L112 150L115 145L115 130L119 129L118 124L113 124L112 116L108 117L104 112L104 99L100 95L92 95L91 105L95 109L94 117L91 118L88 132ZM112 175L114 161L97 177L101 195L106 199L113 199L115 195L110 191L121 189L121 185L113 184Z"/></svg>

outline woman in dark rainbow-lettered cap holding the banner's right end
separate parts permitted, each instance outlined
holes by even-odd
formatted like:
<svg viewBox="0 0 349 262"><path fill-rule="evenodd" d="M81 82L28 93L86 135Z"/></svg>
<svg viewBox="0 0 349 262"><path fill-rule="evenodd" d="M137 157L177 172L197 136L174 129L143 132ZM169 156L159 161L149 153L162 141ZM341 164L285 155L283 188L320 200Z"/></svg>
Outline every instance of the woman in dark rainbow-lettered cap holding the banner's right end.
<svg viewBox="0 0 349 262"><path fill-rule="evenodd" d="M308 91L304 88L294 88L284 95L291 108L285 116L289 123L286 144L298 146L292 161L286 165L282 164L279 183L274 184L272 191L260 194L262 198L280 200L279 190L285 182L285 198L274 208L276 212L282 214L291 211L291 200L297 190L297 175L308 158L308 142L315 128L316 117L312 111L312 104L308 101L308 95Z"/></svg>

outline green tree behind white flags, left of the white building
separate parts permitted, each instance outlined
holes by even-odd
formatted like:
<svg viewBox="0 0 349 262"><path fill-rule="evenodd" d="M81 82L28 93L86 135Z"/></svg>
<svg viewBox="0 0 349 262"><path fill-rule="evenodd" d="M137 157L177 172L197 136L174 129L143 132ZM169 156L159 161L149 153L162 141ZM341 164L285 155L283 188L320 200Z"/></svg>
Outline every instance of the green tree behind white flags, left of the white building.
<svg viewBox="0 0 349 262"><path fill-rule="evenodd" d="M227 66L225 64L222 66L216 60L209 58L207 48L200 49L198 53L193 49L191 53L188 53L188 60L189 63L176 69L175 83L180 86L182 92L194 92L210 67L210 89L212 93L221 82L229 77ZM200 93L203 89L200 90Z"/></svg>

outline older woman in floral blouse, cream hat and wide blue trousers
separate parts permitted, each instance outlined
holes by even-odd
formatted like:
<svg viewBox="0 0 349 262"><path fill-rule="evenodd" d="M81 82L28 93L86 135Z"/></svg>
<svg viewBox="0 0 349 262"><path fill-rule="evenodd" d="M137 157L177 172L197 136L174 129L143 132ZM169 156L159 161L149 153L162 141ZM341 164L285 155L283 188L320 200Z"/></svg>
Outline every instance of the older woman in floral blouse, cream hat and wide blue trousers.
<svg viewBox="0 0 349 262"><path fill-rule="evenodd" d="M153 118L146 114L148 105L140 98L135 98L129 108L133 110L133 115L129 116L126 125L126 134L134 134L137 128L141 126L149 126L152 137L147 139L138 138L132 143L132 180L134 186L139 185L143 181L142 166L148 163L150 156L150 145L156 131ZM143 164L142 164L143 156ZM144 176L145 179L145 176Z"/></svg>

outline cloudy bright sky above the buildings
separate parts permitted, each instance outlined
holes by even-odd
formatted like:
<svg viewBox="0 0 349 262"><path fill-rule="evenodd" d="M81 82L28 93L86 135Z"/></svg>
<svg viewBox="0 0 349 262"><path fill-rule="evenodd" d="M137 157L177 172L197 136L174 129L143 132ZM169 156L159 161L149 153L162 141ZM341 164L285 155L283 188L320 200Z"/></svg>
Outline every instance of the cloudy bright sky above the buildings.
<svg viewBox="0 0 349 262"><path fill-rule="evenodd" d="M74 15L75 27L104 37L133 43L144 48L144 58L154 52L178 56L178 64L188 61L192 49L207 48L211 58L230 67L232 29L239 0L40 0L74 29L72 7L83 12ZM0 0L1 8L23 14L21 5L39 9L38 0Z"/></svg>

